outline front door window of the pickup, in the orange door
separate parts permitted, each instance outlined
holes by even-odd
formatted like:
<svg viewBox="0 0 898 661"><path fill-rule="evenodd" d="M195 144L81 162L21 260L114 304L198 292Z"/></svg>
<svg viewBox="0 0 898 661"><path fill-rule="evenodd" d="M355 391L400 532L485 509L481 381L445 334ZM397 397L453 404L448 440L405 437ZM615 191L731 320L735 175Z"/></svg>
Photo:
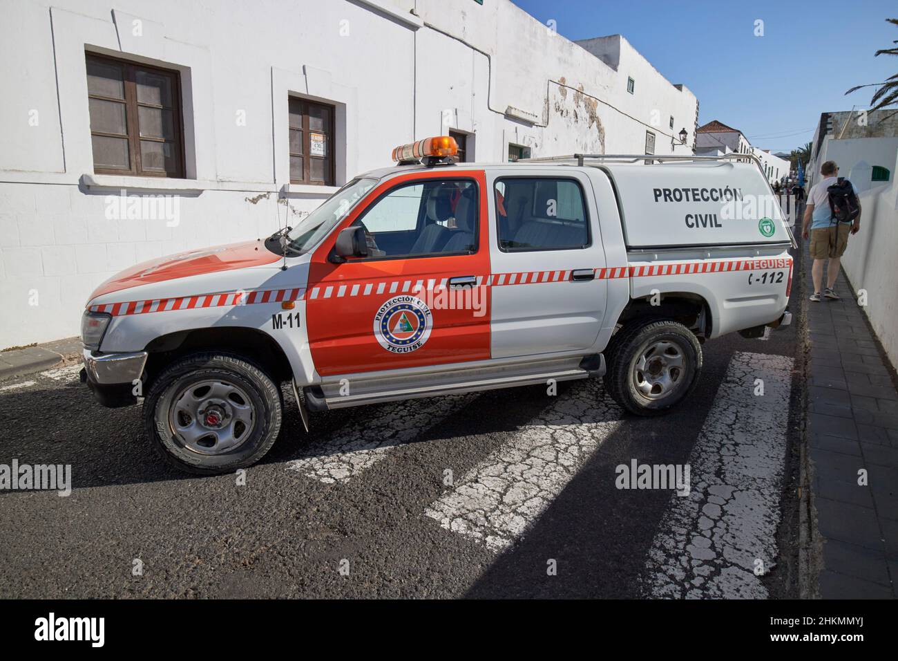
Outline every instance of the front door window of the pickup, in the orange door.
<svg viewBox="0 0 898 661"><path fill-rule="evenodd" d="M464 255L477 251L477 183L428 179L384 193L353 223L373 258Z"/></svg>

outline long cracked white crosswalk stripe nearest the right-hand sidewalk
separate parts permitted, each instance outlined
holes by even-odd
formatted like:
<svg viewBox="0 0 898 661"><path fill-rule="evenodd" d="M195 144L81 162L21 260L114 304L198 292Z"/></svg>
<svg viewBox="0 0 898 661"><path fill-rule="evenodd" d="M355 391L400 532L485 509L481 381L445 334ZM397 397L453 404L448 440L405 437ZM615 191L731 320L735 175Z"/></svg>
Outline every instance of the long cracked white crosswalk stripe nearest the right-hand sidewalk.
<svg viewBox="0 0 898 661"><path fill-rule="evenodd" d="M768 596L755 569L777 559L792 359L735 353L689 458L690 496L672 496L648 553L656 597ZM758 379L763 396L755 396ZM757 563L760 560L762 566Z"/></svg>

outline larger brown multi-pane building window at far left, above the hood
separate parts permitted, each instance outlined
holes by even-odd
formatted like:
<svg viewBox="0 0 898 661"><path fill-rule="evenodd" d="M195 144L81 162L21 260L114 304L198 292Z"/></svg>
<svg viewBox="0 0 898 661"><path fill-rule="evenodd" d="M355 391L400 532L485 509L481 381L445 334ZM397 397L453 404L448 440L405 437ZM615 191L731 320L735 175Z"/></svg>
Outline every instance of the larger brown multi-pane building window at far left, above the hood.
<svg viewBox="0 0 898 661"><path fill-rule="evenodd" d="M180 75L89 54L93 171L183 177Z"/></svg>

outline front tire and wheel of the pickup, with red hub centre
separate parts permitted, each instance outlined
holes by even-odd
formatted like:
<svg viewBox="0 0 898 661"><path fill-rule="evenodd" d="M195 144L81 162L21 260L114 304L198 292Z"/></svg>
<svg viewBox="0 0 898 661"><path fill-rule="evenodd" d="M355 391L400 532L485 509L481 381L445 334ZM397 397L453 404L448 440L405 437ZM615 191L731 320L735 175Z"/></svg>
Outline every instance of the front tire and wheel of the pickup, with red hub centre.
<svg viewBox="0 0 898 661"><path fill-rule="evenodd" d="M256 463L280 432L277 384L259 367L226 353L173 362L144 400L144 426L163 459L198 475Z"/></svg>

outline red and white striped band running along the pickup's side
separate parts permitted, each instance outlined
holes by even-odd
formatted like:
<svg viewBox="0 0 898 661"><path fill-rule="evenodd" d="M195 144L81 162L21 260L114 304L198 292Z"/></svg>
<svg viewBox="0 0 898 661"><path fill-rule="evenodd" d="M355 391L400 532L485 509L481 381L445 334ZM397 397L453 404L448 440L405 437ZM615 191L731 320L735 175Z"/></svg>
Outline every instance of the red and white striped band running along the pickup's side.
<svg viewBox="0 0 898 661"><path fill-rule="evenodd" d="M618 280L621 278L645 278L665 275L686 275L692 273L722 273L733 271L759 271L792 267L792 259L737 259L724 261L681 262L678 264L643 264L610 266L594 269L596 280ZM480 275L477 286L506 287L519 284L542 284L545 282L569 281L570 271L519 271ZM92 312L108 312L113 317L143 315L151 312L171 312L197 308L224 308L237 305L259 303L280 303L305 299L339 299L344 297L371 296L381 294L409 293L421 290L441 290L446 287L446 278L421 280L386 280L334 284L313 287L310 290L237 290L219 291L210 294L182 296L172 299L132 300L121 303L93 305Z"/></svg>

